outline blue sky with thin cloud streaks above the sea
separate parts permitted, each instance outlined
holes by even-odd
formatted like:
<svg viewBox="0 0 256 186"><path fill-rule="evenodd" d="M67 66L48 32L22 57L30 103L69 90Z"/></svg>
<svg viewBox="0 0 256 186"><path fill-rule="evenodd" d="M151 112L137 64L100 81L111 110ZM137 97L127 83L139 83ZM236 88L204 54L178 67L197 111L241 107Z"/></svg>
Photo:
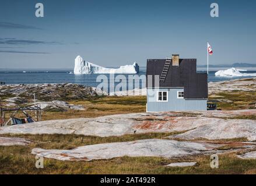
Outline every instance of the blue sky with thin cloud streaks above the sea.
<svg viewBox="0 0 256 186"><path fill-rule="evenodd" d="M44 17L34 15L37 2ZM219 17L210 16L211 3ZM0 68L73 68L74 59L120 66L146 59L197 58L206 64L255 62L256 1L2 1Z"/></svg>

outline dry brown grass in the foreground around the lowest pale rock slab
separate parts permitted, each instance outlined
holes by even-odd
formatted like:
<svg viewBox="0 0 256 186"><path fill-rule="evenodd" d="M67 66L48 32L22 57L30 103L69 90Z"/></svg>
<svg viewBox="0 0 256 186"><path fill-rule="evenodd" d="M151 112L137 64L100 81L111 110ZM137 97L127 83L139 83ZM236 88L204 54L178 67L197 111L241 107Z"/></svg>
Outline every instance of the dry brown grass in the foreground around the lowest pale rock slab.
<svg viewBox="0 0 256 186"><path fill-rule="evenodd" d="M169 134L150 133L121 137L89 137L81 135L5 135L34 141L28 146L0 146L0 174L254 174L256 160L236 157L236 153L219 155L219 169L211 169L210 155L188 156L177 159L124 156L121 158L92 160L90 162L44 159L44 169L36 169L33 148L71 149L76 146L103 142L132 141L164 138ZM194 167L164 167L174 162L197 162Z"/></svg>

